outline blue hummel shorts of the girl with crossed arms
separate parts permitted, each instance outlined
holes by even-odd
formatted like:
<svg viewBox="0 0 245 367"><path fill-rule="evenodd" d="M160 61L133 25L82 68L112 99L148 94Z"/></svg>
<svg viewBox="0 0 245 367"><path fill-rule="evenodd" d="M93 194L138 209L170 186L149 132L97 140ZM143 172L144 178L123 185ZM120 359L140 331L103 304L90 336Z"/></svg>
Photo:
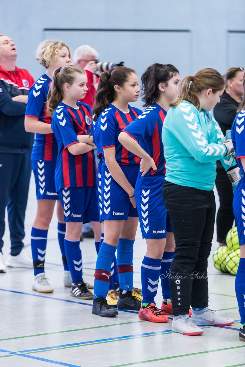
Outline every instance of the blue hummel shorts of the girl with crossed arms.
<svg viewBox="0 0 245 367"><path fill-rule="evenodd" d="M95 187L60 189L59 199L64 208L64 222L99 221Z"/></svg>

